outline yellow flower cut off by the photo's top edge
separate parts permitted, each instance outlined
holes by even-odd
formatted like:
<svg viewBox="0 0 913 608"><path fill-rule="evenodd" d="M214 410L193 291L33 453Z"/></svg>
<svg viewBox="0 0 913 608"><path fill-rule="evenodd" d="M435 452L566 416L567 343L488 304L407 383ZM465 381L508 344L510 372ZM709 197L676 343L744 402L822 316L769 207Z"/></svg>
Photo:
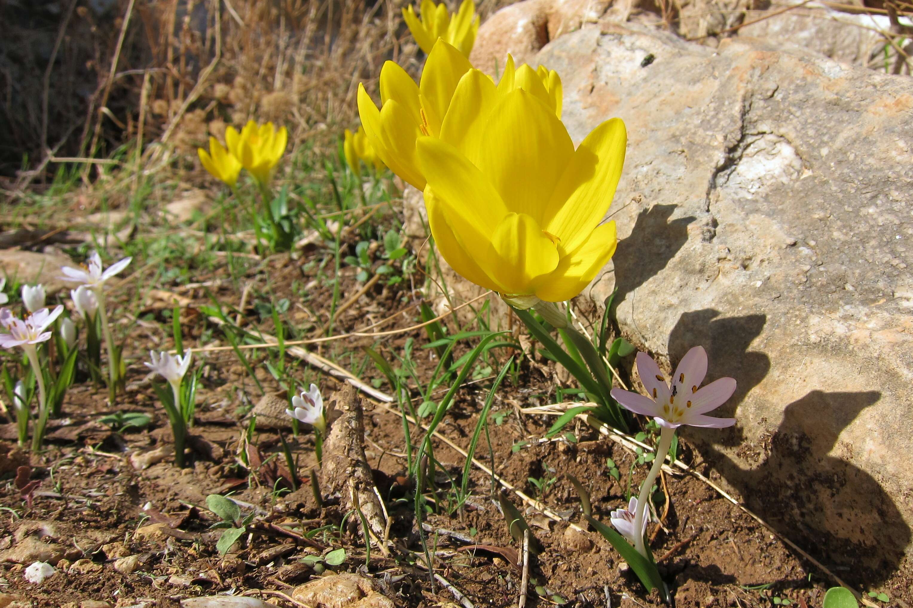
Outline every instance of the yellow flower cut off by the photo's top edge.
<svg viewBox="0 0 913 608"><path fill-rule="evenodd" d="M472 0L463 0L459 11L455 15L447 13L447 7L442 2L435 5L431 0L422 0L422 19L415 16L412 5L403 9L403 18L409 31L415 38L418 46L431 54L438 38L443 38L447 43L456 46L463 57L469 57L473 44L476 42L479 17L476 15L476 5Z"/></svg>

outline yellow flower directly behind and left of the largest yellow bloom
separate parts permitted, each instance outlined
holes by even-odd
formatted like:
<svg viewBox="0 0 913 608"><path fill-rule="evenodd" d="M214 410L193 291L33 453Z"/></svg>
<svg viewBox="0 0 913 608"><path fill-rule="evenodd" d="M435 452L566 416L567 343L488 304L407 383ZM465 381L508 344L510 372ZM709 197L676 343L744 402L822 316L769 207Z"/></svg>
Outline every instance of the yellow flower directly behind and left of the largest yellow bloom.
<svg viewBox="0 0 913 608"><path fill-rule="evenodd" d="M393 61L383 64L380 109L364 86L358 86L358 113L373 149L390 170L419 190L425 189L425 177L415 159L415 139L438 136L456 83L471 68L454 46L439 39L417 86Z"/></svg>

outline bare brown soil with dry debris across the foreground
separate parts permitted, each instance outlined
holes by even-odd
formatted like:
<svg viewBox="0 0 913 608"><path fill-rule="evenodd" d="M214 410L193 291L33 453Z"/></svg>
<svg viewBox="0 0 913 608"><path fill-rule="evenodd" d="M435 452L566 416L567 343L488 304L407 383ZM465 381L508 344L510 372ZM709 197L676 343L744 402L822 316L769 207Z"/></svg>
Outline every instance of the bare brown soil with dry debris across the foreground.
<svg viewBox="0 0 913 608"><path fill-rule="evenodd" d="M266 287L268 281L274 297L289 297L295 302L298 296L290 291L292 281L308 282L313 276L311 271L303 270L304 262L290 261L288 256L274 256L268 261L266 272L251 272L247 280L258 287ZM360 287L352 278L352 270L343 268L341 273L341 301ZM196 312L196 306L208 304L202 289L185 290L176 286L173 289L190 299L183 318L187 344L195 345L203 335L220 336L217 329L210 334L212 325L203 314ZM211 289L217 298L237 304L239 295L230 282ZM329 301L328 287L317 284L310 290L311 303ZM359 304L342 315L336 331L380 320L392 311L413 304L411 297L406 288L385 287L379 283ZM147 312L161 315L165 307L152 305ZM250 322L259 325L253 308L245 312ZM289 318L297 319L298 325L311 316L306 307L293 306L288 314ZM416 319L417 313L412 309L384 329L412 325ZM0 563L0 584L4 585L0 587L0 593L24 596L36 607L68 603L76 606L83 600L106 600L118 606L130 606L142 598L158 601L155 605L171 606L176 605L173 603L176 599L230 589L290 593L294 585L317 574L309 564L301 562L303 556L339 547L346 548L347 559L329 570L364 571L366 555L357 518L345 518L338 499L324 496L325 504L320 508L312 495L310 480L304 472L315 462L310 433L303 432L298 438L291 438L286 431L289 445L299 457L299 475L304 478L297 491L280 496L273 492L277 475L285 467L281 444L274 430L257 428L250 440L261 458L268 460L267 464L259 469L247 469L243 465L240 450L245 445L247 422L242 416L244 410L257 401L259 394L230 350L200 357L205 360L207 369L199 390L202 401L193 432L205 441L194 444L197 449L190 466L177 469L170 459L142 470L131 465L132 455L171 440L167 419L156 403L142 366L142 353L146 348L171 345L161 323L163 319L157 320L159 323L137 324L130 328L128 345L131 346L126 350L135 356L136 362L129 366L128 390L118 402L118 407L124 411L152 416L152 427L139 432L111 432L99 422L101 416L112 411L105 402L106 392L88 382L73 386L64 407L67 419L55 423L51 429L47 450L30 458L31 477L41 482L33 504L26 504L11 481L0 488L0 505L5 508L0 511L0 551L17 546L28 531L43 527L45 538L41 542L60 545L56 557L62 555L66 560L58 566L77 562L76 567L68 572L58 572L36 585L24 580L27 563ZM310 321L313 325L322 325L322 319ZM272 330L268 320L261 326L265 332ZM418 348L427 340L424 330L393 336L383 348L400 352L407 336L415 337L415 353L420 354L415 358L420 366L434 366L436 361L431 352ZM326 345L323 351L325 356L333 356L343 365L346 361L360 360L360 355L349 357L344 354L357 354L360 346L371 344L373 341L369 338L352 339ZM505 359L503 353L496 352L496 356L501 361ZM260 382L268 391L277 390L278 386L265 366L258 365L263 354L257 353L252 358ZM291 357L288 363L299 366ZM308 375L320 384L328 402L340 388L329 376L318 379L303 365L296 369L299 369L296 372L299 376ZM624 503L627 489L637 488L645 475L644 465L634 465L634 454L600 438L595 430L577 421L569 427L577 438L576 443L560 440L513 449L519 441L543 437L554 419L519 413L519 407L549 403L554 396L554 375L546 370L548 377L543 376L541 369L540 365L529 366L527 361L518 386L505 380L492 407L497 416L489 418L490 452L483 435L477 459L486 463L493 459L499 476L530 495L536 494L536 488L529 478L554 478L540 500L568 520L585 525L581 523L576 492L564 477L565 473L572 473L591 488L595 517L607 521L609 511ZM420 369L420 372L427 370ZM360 376L367 381L379 374L373 366L366 366ZM465 448L487 396L486 386L481 382L460 391L438 431ZM384 385L382 390L390 389ZM385 556L374 547L366 570L388 582L395 592L397 605L452 605L455 598L448 591L439 584L433 590L427 572L410 565L422 554L422 548L412 502L405 499L409 489L401 485L405 470L401 419L384 407L374 407L365 413L364 426L365 454L368 463L380 471L375 474L375 480L387 498L386 508L394 520L390 531L394 549ZM0 466L5 466L0 473L4 479L12 480L14 467L23 463L22 458L26 461L28 458L16 456L15 428L7 425L0 427L0 431L0 453L10 452L9 458L0 459ZM250 455L252 449L248 447L245 453ZM274 455L278 456L269 460ZM436 442L435 457L449 475L458 479L464 463L461 455ZM608 474L607 458L617 465L620 480ZM684 445L679 458L700 461L698 455ZM270 463L278 465L277 470L271 471L273 465ZM629 486L628 475L632 467ZM701 472L713 475L708 469ZM451 516L446 510L449 483L438 478L440 510L426 518L431 530L428 533L429 550L436 551L436 572L465 593L472 603L512 606L518 602L521 572L509 562L509 557L511 551L516 554L519 547L510 538L496 500L489 498L493 485L497 490L497 483L493 484L486 474L473 469L469 484L472 497L465 509ZM774 598L789 600L803 608L821 605L824 590L833 584L824 572L804 562L770 531L722 499L704 482L687 475L666 476L661 488L667 488L669 508L666 512L660 504L663 523L657 526L652 547L656 559L661 560L660 570L677 606L772 606ZM215 550L219 532L209 529L215 522L215 515L205 510L205 498L207 494L229 491L234 492L236 500L248 505L242 506L243 511L257 510L259 517L252 525L251 534L242 536L239 545L221 558ZM598 533L591 531L582 537L568 530L568 522L547 520L525 510L516 496L511 496L511 500L525 513L536 537L545 546L545 551L530 562L528 606L546 606L561 598L569 605L580 606L634 608L637 605L645 608L661 605L656 593L644 593L618 553ZM143 510L145 506L150 508ZM467 538L496 549L461 551L467 546ZM138 556L137 569L131 573L115 570L115 562L129 555ZM859 578L864 574L855 573L856 578L850 572L840 574L860 585L865 584L865 580ZM908 603L913 602L908 583L904 574L897 574L880 590L890 595L892 604L897 602L908 608ZM545 593L547 597L539 597L537 592ZM278 597L265 599L279 605L291 605L283 604Z"/></svg>

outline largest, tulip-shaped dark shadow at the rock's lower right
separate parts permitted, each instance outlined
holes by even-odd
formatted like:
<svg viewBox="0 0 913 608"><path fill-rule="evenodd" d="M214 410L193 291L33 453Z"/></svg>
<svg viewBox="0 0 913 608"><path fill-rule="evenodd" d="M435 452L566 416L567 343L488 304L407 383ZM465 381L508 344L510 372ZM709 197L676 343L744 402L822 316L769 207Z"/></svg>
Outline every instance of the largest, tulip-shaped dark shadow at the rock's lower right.
<svg viewBox="0 0 913 608"><path fill-rule="evenodd" d="M866 586L897 571L910 530L876 479L830 453L841 431L880 397L813 390L793 401L754 469L704 450L750 510L842 578Z"/></svg>

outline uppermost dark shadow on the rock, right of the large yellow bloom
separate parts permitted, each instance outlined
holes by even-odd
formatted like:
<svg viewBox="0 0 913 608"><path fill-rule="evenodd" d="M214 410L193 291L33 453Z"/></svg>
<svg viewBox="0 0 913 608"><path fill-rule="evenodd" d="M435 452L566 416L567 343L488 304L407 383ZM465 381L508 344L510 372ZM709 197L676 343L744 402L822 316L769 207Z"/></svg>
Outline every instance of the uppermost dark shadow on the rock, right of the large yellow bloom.
<svg viewBox="0 0 913 608"><path fill-rule="evenodd" d="M687 242L687 225L695 218L678 218L669 222L676 205L654 205L637 214L631 235L618 242L612 256L618 294L615 305L647 279L666 268Z"/></svg>

